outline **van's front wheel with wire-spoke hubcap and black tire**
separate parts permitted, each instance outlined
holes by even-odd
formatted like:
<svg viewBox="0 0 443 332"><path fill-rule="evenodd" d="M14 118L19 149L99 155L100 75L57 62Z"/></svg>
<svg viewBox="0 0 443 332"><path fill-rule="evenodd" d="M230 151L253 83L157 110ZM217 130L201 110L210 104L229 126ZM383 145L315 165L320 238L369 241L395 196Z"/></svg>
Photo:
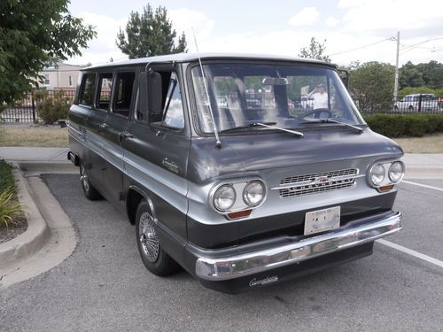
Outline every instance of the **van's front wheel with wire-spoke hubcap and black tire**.
<svg viewBox="0 0 443 332"><path fill-rule="evenodd" d="M136 212L136 240L144 266L159 276L175 274L180 267L162 249L155 224L150 205L143 201Z"/></svg>

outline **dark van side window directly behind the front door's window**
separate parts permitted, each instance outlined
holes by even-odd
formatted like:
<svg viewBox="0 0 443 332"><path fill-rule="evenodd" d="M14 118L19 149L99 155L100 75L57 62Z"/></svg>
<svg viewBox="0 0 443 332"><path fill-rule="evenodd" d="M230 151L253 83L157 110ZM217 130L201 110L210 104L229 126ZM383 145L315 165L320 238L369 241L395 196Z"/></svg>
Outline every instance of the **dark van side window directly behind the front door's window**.
<svg viewBox="0 0 443 332"><path fill-rule="evenodd" d="M128 118L131 109L132 90L136 73L117 73L115 80L115 91L113 93L113 112Z"/></svg>

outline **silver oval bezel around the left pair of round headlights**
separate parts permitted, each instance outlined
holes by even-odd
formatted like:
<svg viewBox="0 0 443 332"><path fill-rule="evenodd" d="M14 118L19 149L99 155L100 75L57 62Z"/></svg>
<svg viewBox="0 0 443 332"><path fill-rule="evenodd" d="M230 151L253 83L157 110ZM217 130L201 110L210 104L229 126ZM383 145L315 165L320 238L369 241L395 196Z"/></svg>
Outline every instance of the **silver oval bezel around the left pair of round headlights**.
<svg viewBox="0 0 443 332"><path fill-rule="evenodd" d="M247 205L244 199L244 190L245 187L250 183L250 182L260 182L260 184L263 186L263 198L261 199L260 203L257 205ZM234 205L231 205L231 207L229 209L226 210L221 210L219 208L217 208L217 206L215 206L214 204L214 196L215 193L217 192L217 190L219 190L221 187L223 186L231 186L235 193L236 193L236 200ZM263 203L266 201L268 197L268 187L265 183L265 181L261 180L260 178L249 178L249 179L239 179L239 180L234 180L234 181L221 181L217 184L215 184L212 189L210 189L209 191L209 196L208 196L208 201L209 201L209 205L211 206L212 210L214 210L214 212L217 213L221 213L221 214L229 214L232 212L240 212L240 211L245 211L245 210L253 210L253 209L257 209L258 207L260 207L261 205L263 205Z"/></svg>

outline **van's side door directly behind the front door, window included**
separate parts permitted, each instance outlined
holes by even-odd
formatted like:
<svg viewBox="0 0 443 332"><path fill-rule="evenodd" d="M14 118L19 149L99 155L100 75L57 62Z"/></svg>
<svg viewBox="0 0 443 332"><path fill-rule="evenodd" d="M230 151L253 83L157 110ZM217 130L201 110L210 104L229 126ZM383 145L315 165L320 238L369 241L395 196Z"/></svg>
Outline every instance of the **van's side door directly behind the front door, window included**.
<svg viewBox="0 0 443 332"><path fill-rule="evenodd" d="M135 102L133 100L135 80L135 68L114 73L111 108L102 133L105 142L104 195L115 205L124 205L122 143L130 139L126 128L132 104Z"/></svg>

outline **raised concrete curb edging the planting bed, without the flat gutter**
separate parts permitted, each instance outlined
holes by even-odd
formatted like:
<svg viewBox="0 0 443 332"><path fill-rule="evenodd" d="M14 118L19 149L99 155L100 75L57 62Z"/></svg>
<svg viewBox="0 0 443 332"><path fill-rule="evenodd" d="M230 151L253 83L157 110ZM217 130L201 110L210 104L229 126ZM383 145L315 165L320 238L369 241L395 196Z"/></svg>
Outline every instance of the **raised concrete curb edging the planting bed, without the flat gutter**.
<svg viewBox="0 0 443 332"><path fill-rule="evenodd" d="M0 267L39 251L51 234L29 193L27 180L19 169L14 169L13 174L17 183L19 203L27 218L27 230L11 241L0 244Z"/></svg>

